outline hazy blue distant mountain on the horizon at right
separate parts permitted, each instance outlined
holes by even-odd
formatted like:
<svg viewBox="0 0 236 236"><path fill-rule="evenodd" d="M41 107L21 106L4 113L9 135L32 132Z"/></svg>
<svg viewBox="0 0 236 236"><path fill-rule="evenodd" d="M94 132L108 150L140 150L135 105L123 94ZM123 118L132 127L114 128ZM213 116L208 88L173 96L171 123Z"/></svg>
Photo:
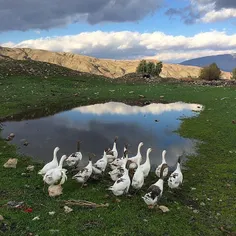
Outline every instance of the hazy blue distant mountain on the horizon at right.
<svg viewBox="0 0 236 236"><path fill-rule="evenodd" d="M218 67L221 70L232 72L232 70L236 68L236 53L199 57L181 62L180 64L204 67L214 62L218 65Z"/></svg>

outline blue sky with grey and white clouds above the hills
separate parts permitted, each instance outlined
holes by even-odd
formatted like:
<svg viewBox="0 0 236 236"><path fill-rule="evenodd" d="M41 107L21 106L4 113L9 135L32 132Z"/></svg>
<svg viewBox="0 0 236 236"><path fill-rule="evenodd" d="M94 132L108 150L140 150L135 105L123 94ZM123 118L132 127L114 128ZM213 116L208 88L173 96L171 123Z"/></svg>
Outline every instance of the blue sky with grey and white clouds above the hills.
<svg viewBox="0 0 236 236"><path fill-rule="evenodd" d="M236 0L0 0L0 46L98 58L236 53Z"/></svg>

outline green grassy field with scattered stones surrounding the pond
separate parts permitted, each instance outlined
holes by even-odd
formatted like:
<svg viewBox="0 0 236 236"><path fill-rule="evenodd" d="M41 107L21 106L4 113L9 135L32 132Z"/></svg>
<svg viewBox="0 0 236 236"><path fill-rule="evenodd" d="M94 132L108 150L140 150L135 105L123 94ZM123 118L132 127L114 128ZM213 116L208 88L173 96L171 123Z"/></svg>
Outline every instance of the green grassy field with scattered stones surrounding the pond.
<svg viewBox="0 0 236 236"><path fill-rule="evenodd" d="M22 176L32 164L29 157L18 156L14 146L0 140L0 234L4 235L235 235L236 231L236 90L235 88L198 87L184 84L115 84L97 77L35 78L8 77L0 80L0 117L37 117L73 106L101 101L141 100L200 103L205 110L184 119L178 132L201 140L198 155L189 156L184 171L184 186L171 193L165 183L160 204L168 213L150 210L141 196L154 176L136 196L116 197L105 189L108 178L89 182L85 189L70 179L63 195L54 199L43 192L37 171ZM130 93L130 91L134 91ZM140 99L144 95L145 99ZM16 115L18 114L18 115ZM19 115L20 114L20 115ZM23 114L23 116L22 116ZM14 131L13 131L14 132ZM16 169L5 169L9 159L19 159ZM109 195L108 195L109 194ZM64 213L60 200L82 199L109 203L109 207L88 209L73 206ZM33 209L26 213L9 209L8 201L24 201ZM48 212L55 211L51 216ZM32 221L36 216L39 220ZM31 234L30 234L31 233Z"/></svg>

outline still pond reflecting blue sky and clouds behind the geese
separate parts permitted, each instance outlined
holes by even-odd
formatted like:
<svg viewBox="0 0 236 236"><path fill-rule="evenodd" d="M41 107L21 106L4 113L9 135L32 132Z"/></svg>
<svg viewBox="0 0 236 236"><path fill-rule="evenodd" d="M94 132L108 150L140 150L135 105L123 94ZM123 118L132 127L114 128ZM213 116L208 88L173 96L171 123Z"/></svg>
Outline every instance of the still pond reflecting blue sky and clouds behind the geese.
<svg viewBox="0 0 236 236"><path fill-rule="evenodd" d="M81 141L82 165L88 160L88 153L94 153L96 160L106 147L112 148L118 136L117 149L122 156L124 143L130 145L130 157L136 155L139 142L143 142L141 153L146 157L147 148L152 167L161 163L161 152L166 149L166 159L175 165L179 155L192 154L196 140L180 137L177 130L180 118L192 117L202 110L200 104L183 102L152 103L143 107L119 102L108 102L74 108L52 116L33 120L7 121L3 123L1 135L6 138L15 134L11 143L16 144L19 153L32 156L35 160L50 161L53 150L60 147L58 156L76 151ZM29 143L24 145L25 140Z"/></svg>

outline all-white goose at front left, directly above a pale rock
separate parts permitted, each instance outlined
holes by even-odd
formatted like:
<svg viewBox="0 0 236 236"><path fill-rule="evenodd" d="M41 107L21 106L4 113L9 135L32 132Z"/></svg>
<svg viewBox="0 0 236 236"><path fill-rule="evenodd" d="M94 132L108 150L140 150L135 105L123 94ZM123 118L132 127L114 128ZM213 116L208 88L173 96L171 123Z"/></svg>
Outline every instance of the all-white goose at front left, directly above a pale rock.
<svg viewBox="0 0 236 236"><path fill-rule="evenodd" d="M54 168L54 169L50 169L46 172L46 174L43 177L43 181L45 183L47 183L48 185L54 185L56 184L59 180L60 181L60 185L64 184L65 181L67 180L67 176L66 176L66 169L63 169L63 162L66 160L66 155L63 155L60 159L59 165Z"/></svg>

